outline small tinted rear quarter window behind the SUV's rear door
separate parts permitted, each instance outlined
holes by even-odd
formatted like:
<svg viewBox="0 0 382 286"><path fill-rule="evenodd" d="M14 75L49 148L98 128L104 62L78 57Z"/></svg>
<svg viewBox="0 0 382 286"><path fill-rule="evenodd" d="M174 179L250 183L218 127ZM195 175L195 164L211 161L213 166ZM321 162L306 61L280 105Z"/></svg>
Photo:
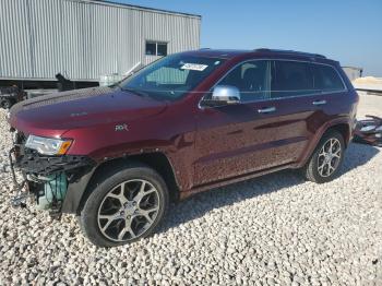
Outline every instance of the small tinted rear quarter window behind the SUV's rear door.
<svg viewBox="0 0 382 286"><path fill-rule="evenodd" d="M345 90L344 83L334 68L324 64L312 64L314 87L321 92Z"/></svg>

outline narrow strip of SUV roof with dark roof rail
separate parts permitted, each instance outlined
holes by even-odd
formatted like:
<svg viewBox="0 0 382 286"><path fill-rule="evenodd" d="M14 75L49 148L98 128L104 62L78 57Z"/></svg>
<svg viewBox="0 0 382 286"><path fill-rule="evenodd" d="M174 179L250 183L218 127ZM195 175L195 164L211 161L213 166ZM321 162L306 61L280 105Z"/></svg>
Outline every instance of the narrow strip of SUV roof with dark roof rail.
<svg viewBox="0 0 382 286"><path fill-rule="evenodd" d="M238 50L238 49L199 49L199 50L192 50L192 51L186 51L188 53L204 56L204 57L216 57L216 58L224 58L224 59L230 59L237 56L290 56L290 57L299 57L299 58L306 58L306 59L326 59L325 56L319 55L319 53L311 53L311 52L305 52L305 51L296 51L296 50L280 50L280 49L267 49L267 48L261 48L261 49L253 49L253 50Z"/></svg>

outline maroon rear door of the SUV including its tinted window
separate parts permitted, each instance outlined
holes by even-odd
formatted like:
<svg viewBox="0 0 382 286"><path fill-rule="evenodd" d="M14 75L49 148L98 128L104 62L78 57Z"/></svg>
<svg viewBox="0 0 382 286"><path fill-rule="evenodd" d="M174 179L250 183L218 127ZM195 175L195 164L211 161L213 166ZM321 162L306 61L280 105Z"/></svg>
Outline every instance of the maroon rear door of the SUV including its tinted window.
<svg viewBox="0 0 382 286"><path fill-rule="evenodd" d="M276 166L298 162L323 119L314 104L321 98L310 62L273 60L271 76L271 98L278 111L278 147L273 159Z"/></svg>

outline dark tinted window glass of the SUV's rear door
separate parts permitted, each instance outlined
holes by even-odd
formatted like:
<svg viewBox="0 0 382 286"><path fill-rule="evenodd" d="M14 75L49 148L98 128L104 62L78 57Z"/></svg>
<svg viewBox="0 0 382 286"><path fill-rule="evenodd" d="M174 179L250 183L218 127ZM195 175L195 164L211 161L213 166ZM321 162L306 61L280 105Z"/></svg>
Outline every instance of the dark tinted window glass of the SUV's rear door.
<svg viewBox="0 0 382 286"><path fill-rule="evenodd" d="M271 81L272 97L314 94L313 75L308 62L274 61Z"/></svg>

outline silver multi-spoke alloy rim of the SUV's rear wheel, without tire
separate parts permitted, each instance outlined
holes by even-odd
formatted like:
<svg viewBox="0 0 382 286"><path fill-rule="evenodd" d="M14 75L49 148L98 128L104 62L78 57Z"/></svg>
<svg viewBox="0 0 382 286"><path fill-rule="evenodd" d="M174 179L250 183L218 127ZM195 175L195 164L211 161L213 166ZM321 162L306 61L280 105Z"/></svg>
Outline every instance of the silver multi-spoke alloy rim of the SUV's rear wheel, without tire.
<svg viewBox="0 0 382 286"><path fill-rule="evenodd" d="M341 142L335 139L329 139L320 150L318 156L318 170L320 176L329 177L338 167L342 156Z"/></svg>

